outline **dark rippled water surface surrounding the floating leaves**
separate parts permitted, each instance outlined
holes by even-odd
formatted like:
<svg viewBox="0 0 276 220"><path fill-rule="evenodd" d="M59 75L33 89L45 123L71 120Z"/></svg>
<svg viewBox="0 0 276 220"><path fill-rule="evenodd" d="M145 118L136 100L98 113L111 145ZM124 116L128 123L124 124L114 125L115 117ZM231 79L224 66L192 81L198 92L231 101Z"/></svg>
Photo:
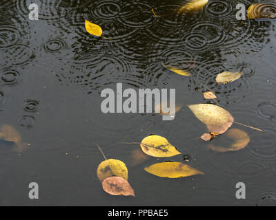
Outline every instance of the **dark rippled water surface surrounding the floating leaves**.
<svg viewBox="0 0 276 220"><path fill-rule="evenodd" d="M0 122L17 129L30 146L18 153L0 143L0 205L195 206L276 205L275 21L237 21L237 3L212 1L197 14L177 14L186 1L1 0ZM39 21L28 5L39 4ZM165 17L154 17L150 9ZM101 25L103 36L84 27ZM167 65L189 69L179 76ZM193 65L188 65L193 63ZM220 72L242 71L241 79L217 85ZM101 112L102 89L176 89L183 107L175 120L156 113ZM250 136L241 151L218 153L198 137L206 132L187 104L214 103L199 91L213 89L217 101ZM133 164L132 151L150 134L166 137L205 175L164 179ZM220 137L219 137L220 138ZM108 158L128 166L136 197L112 197L101 189L96 169ZM39 199L28 184L39 184ZM246 199L235 185L246 184Z"/></svg>

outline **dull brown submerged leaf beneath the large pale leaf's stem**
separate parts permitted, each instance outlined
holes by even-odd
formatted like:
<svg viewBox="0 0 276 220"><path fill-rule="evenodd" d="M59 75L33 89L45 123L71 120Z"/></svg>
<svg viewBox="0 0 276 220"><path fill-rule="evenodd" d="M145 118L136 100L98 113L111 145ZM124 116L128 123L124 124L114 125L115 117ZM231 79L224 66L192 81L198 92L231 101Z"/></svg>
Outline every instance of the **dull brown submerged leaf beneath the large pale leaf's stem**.
<svg viewBox="0 0 276 220"><path fill-rule="evenodd" d="M208 148L213 151L226 152L226 151L239 151L242 148L245 148L250 142L250 137L244 131L239 129L229 129L225 135L231 140L234 140L234 144L231 144L230 147L215 146L213 144L208 144Z"/></svg>

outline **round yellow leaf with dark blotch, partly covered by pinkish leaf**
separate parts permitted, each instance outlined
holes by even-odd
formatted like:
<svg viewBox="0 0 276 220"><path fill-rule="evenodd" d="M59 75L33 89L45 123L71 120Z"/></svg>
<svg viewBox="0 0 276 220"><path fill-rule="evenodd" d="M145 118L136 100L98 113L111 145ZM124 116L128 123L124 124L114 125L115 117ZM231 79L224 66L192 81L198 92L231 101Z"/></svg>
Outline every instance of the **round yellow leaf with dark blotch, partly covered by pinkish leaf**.
<svg viewBox="0 0 276 220"><path fill-rule="evenodd" d="M119 159L106 159L97 168L97 176L99 181L103 181L107 177L118 176L128 181L128 168L126 164Z"/></svg>

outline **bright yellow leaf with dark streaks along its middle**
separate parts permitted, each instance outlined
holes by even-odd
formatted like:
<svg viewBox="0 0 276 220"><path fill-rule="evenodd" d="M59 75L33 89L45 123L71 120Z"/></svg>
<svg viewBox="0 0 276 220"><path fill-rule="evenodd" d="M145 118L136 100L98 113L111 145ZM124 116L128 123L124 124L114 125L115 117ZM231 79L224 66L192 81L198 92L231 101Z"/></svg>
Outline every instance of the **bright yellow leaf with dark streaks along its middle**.
<svg viewBox="0 0 276 220"><path fill-rule="evenodd" d="M159 135L145 137L140 146L144 153L152 157L172 157L180 154L175 146L172 146L165 137Z"/></svg>

